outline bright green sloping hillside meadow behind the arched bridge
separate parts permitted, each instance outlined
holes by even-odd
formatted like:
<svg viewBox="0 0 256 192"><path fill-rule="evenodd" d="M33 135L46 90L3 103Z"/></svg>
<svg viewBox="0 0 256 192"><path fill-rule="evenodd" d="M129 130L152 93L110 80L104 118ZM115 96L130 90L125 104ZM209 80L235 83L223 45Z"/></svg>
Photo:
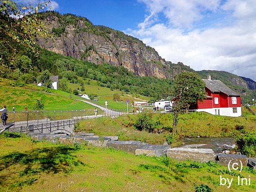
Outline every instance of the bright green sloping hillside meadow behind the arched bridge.
<svg viewBox="0 0 256 192"><path fill-rule="evenodd" d="M13 106L16 111L24 111L25 106L28 110L33 110L33 106L36 100L41 100L44 103L44 110L88 110L93 109L94 106L77 101L76 99L82 99L80 96L76 96L67 92L47 89L44 87L38 87L34 84L26 84L24 87L11 86L11 81L8 79L0 79L0 107L3 108L4 105L7 106L8 111L12 111ZM92 83L93 84L93 83ZM124 94L119 90L111 91L109 88L95 86L92 84L85 84L87 94L97 95L99 101L95 101L96 104L105 106L105 101L108 101L108 109L121 110L126 112L126 100L130 100L130 104L133 100L143 100L148 99L144 96L139 96L140 98L133 97L129 94ZM95 84L95 83L94 83ZM81 88L78 84L70 83L70 87L73 89ZM120 95L120 101L113 101L114 94ZM138 95L137 95L138 96ZM84 99L85 100L85 99ZM121 102L121 100L123 102ZM129 105L129 111L131 112L131 105Z"/></svg>

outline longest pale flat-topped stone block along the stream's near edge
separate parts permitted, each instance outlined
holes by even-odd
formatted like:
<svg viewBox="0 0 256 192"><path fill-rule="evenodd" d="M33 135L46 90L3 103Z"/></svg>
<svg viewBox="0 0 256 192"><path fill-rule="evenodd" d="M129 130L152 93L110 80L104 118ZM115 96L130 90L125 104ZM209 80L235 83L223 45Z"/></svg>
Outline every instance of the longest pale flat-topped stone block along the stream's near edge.
<svg viewBox="0 0 256 192"><path fill-rule="evenodd" d="M216 155L210 148L170 148L166 156L177 160L192 160L199 162L214 161Z"/></svg>

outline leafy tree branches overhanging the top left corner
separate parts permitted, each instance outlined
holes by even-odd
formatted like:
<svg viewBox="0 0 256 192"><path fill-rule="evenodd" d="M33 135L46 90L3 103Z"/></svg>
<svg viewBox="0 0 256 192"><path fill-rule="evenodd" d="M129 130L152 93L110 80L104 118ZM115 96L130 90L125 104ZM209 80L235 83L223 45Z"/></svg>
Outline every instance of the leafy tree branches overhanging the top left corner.
<svg viewBox="0 0 256 192"><path fill-rule="evenodd" d="M49 37L47 29L38 19L38 12L47 2L36 7L17 4L14 1L0 2L0 75L6 76L22 48L38 56L36 36Z"/></svg>

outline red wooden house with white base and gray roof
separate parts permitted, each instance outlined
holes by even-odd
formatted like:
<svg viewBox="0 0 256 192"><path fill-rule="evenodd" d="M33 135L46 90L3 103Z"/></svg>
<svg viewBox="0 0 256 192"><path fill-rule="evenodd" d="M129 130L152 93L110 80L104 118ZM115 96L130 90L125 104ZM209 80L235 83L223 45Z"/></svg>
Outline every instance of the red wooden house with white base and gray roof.
<svg viewBox="0 0 256 192"><path fill-rule="evenodd" d="M228 88L220 80L211 80L210 75L205 82L206 98L198 101L197 111L212 115L239 117L242 115L240 95Z"/></svg>

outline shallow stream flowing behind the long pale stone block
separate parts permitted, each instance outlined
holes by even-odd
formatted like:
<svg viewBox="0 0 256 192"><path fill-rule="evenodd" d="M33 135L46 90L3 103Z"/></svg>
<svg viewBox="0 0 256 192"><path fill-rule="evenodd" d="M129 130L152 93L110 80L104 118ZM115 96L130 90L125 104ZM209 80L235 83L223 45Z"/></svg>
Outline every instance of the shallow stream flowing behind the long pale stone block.
<svg viewBox="0 0 256 192"><path fill-rule="evenodd" d="M184 148L211 148L215 153L221 153L223 150L231 150L236 146L236 141L232 137L199 137L183 138Z"/></svg>

